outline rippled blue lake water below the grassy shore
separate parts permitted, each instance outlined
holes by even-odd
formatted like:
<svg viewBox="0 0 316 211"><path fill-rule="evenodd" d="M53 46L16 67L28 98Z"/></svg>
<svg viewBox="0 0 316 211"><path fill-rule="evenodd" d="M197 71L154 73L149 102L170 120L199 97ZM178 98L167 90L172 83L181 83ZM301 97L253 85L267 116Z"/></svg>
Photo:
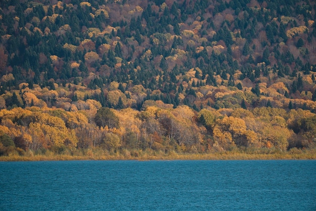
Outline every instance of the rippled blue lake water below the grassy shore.
<svg viewBox="0 0 316 211"><path fill-rule="evenodd" d="M316 160L0 162L0 210L316 210Z"/></svg>

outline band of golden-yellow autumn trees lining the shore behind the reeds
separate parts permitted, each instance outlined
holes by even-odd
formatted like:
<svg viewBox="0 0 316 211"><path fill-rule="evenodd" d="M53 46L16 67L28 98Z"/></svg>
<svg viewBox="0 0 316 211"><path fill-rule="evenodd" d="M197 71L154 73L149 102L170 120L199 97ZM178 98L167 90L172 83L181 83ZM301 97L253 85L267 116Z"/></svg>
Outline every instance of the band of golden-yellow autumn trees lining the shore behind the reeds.
<svg viewBox="0 0 316 211"><path fill-rule="evenodd" d="M149 150L163 153L212 153L239 149L313 148L316 115L307 110L261 107L251 111L173 108L148 100L141 111L115 110L87 100L78 111L48 107L3 109L0 153ZM45 151L44 151L45 152Z"/></svg>

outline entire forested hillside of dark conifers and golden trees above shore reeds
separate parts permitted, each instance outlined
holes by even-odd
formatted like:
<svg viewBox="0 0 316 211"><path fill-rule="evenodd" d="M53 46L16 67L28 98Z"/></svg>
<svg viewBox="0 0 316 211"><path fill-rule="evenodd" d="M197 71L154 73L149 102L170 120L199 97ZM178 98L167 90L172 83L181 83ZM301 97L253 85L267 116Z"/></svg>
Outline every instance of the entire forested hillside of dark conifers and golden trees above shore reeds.
<svg viewBox="0 0 316 211"><path fill-rule="evenodd" d="M315 147L314 1L0 7L0 155Z"/></svg>

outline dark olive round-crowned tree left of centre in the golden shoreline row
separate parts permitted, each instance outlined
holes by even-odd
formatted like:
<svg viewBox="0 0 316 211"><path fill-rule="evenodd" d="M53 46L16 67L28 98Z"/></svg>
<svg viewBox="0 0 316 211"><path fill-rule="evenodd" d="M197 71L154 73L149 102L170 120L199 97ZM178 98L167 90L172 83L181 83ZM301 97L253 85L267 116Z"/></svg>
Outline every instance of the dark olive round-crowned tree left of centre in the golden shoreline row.
<svg viewBox="0 0 316 211"><path fill-rule="evenodd" d="M110 108L100 108L95 114L94 121L100 128L105 126L108 126L110 129L119 128L119 118Z"/></svg>

